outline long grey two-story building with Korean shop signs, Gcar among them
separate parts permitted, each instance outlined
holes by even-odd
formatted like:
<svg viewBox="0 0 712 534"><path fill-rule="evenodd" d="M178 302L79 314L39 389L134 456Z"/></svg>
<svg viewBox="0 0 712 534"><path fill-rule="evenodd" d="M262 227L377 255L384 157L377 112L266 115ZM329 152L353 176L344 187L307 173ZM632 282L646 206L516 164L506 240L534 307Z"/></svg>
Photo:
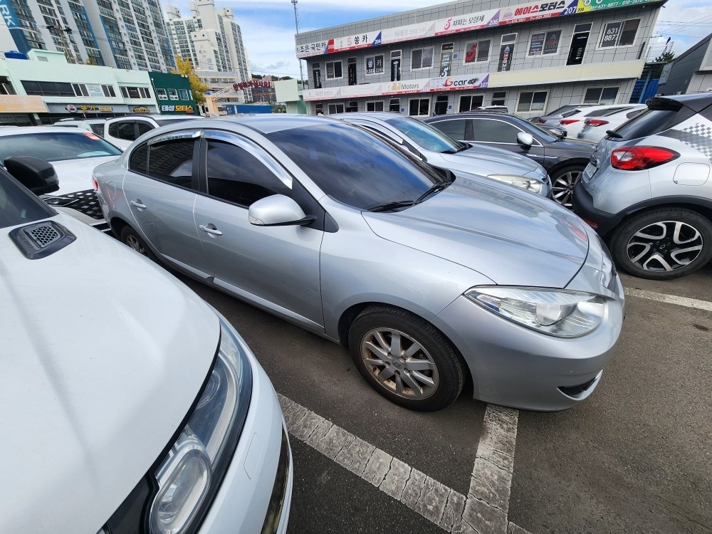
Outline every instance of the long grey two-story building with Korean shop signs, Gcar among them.
<svg viewBox="0 0 712 534"><path fill-rule="evenodd" d="M311 113L627 103L663 1L467 0L295 36Z"/></svg>

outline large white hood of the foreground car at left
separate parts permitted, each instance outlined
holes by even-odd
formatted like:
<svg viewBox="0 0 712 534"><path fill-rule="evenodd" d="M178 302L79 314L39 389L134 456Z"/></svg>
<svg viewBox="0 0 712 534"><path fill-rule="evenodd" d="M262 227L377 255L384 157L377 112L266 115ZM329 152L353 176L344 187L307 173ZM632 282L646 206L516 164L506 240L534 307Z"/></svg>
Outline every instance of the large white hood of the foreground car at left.
<svg viewBox="0 0 712 534"><path fill-rule="evenodd" d="M115 239L51 220L77 239L41 259L0 231L0 531L95 533L184 421L219 320Z"/></svg>

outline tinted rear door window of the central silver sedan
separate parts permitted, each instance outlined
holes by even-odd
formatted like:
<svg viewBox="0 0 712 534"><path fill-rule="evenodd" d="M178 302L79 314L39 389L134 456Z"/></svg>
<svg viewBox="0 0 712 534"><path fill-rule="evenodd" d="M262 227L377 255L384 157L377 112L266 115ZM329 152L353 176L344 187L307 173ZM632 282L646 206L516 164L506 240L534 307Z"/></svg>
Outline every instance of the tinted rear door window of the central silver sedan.
<svg viewBox="0 0 712 534"><path fill-rule="evenodd" d="M178 139L149 146L150 177L180 187L193 189L193 152L195 140Z"/></svg>

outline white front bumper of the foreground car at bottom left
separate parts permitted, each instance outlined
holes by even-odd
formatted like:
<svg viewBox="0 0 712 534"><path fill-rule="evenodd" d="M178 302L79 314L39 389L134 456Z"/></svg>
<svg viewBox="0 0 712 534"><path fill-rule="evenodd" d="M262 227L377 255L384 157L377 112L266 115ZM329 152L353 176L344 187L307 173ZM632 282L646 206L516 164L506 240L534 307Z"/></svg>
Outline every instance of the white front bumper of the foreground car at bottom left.
<svg viewBox="0 0 712 534"><path fill-rule="evenodd" d="M283 534L287 530L294 475L286 424L266 373L250 360L250 411L200 533Z"/></svg>

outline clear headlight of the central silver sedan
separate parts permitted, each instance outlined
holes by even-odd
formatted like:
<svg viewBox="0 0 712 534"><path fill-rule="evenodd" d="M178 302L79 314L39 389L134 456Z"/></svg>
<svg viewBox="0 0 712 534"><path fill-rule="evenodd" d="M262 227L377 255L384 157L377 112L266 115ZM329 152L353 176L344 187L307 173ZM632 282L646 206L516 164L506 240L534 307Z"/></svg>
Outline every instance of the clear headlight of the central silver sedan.
<svg viewBox="0 0 712 534"><path fill-rule="evenodd" d="M486 286L465 296L513 323L556 337L580 337L595 330L604 315L604 298L583 291Z"/></svg>

